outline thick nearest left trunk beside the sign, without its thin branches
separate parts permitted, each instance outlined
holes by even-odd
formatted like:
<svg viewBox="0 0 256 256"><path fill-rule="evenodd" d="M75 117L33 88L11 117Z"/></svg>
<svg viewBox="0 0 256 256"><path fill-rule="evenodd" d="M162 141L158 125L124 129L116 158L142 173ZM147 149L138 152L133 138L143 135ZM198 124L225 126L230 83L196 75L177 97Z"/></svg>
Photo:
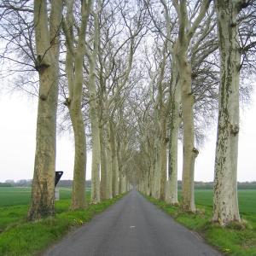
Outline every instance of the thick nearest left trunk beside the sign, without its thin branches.
<svg viewBox="0 0 256 256"><path fill-rule="evenodd" d="M39 98L32 202L28 212L30 220L49 217L55 213L56 110L61 12L62 1L52 3L48 24L46 1L34 1Z"/></svg>

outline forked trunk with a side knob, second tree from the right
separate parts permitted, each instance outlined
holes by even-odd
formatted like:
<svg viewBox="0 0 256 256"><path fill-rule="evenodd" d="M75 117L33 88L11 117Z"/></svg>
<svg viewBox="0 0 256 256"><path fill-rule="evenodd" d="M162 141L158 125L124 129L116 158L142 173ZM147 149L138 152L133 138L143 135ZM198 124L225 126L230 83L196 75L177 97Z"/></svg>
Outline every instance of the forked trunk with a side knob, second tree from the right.
<svg viewBox="0 0 256 256"><path fill-rule="evenodd" d="M189 44L196 29L204 19L209 1L203 0L200 3L198 15L194 15L194 22L190 25L188 5L186 0L172 1L178 17L178 38L174 45L177 58L177 67L181 83L181 102L183 119L183 208L195 212L194 199L194 172L195 158L198 150L195 148L194 114L193 107L195 96L192 91L191 63L188 58Z"/></svg>

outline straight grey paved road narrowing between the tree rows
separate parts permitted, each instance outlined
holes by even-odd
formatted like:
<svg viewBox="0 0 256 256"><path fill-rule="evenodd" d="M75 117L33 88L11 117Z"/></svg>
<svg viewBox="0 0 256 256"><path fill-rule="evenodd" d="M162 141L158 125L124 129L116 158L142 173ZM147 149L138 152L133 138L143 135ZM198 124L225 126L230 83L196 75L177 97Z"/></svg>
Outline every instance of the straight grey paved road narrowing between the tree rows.
<svg viewBox="0 0 256 256"><path fill-rule="evenodd" d="M44 255L221 255L133 190Z"/></svg>

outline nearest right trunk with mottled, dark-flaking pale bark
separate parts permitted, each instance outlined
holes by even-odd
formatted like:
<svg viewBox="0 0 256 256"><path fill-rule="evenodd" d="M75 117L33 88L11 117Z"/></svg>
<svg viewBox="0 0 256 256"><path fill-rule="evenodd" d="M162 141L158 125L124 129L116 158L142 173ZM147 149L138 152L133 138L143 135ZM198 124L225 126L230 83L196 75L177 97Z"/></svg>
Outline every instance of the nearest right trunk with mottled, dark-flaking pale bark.
<svg viewBox="0 0 256 256"><path fill-rule="evenodd" d="M236 25L238 3L239 1L216 1L221 73L212 220L221 225L241 221L236 183L240 70Z"/></svg>

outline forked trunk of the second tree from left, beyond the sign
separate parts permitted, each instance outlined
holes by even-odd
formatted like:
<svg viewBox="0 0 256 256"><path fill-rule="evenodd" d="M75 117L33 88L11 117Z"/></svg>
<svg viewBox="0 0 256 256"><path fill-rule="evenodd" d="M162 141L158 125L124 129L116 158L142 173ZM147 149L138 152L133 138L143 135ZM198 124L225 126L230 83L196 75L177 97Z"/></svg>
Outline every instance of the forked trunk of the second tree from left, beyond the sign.
<svg viewBox="0 0 256 256"><path fill-rule="evenodd" d="M66 73L69 96L66 99L73 125L75 138L75 156L73 167L72 209L85 206L85 175L86 175L86 137L84 131L84 117L82 113L83 92L83 63L85 55L85 34L90 15L92 1L81 2L81 23L78 29L77 45L74 35L74 0L67 2L67 15L63 21L63 29L67 42ZM77 25L77 24L76 24Z"/></svg>

